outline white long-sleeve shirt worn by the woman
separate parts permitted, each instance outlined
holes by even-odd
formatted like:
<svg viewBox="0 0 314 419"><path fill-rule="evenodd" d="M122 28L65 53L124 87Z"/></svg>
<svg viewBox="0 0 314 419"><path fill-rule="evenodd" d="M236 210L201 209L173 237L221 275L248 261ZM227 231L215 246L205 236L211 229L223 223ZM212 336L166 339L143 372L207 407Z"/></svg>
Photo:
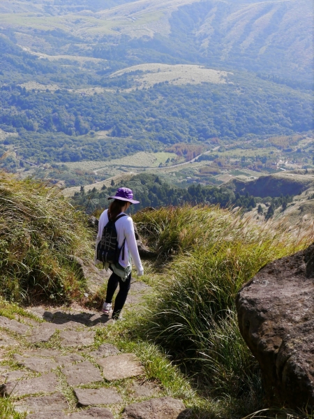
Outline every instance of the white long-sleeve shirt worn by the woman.
<svg viewBox="0 0 314 419"><path fill-rule="evenodd" d="M123 214L121 212L121 214ZM100 263L97 260L97 246L101 240L101 236L103 234L103 228L108 223L108 210L105 210L101 215L98 223L98 235L96 238L96 250L95 250L95 263ZM118 236L118 247L121 249L122 245L124 244L124 239L126 242L124 244L124 258L122 258L122 253L120 253L119 257L119 264L123 267L130 266L130 258L129 255L132 257L133 263L137 269L138 274L142 275L144 269L142 267L142 262L140 260L140 255L138 253L136 239L135 239L135 232L133 226L133 219L130 216L121 216L119 220L115 222L117 236Z"/></svg>

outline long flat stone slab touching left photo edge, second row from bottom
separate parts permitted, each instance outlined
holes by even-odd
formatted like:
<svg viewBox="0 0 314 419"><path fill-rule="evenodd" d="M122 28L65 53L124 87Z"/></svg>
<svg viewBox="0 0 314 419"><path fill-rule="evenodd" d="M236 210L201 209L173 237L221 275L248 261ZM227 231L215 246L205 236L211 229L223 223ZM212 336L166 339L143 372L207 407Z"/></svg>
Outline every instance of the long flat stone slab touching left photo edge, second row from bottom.
<svg viewBox="0 0 314 419"><path fill-rule="evenodd" d="M13 396L33 395L38 392L54 392L58 385L56 374L43 374L40 377L23 381L10 381L0 387L0 394Z"/></svg>

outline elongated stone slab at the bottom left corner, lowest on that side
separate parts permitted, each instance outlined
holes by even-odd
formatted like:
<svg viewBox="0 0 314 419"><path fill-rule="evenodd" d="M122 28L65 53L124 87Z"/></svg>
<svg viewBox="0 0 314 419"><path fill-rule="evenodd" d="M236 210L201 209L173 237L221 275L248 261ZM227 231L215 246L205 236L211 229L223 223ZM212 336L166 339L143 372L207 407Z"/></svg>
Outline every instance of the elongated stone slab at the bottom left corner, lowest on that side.
<svg viewBox="0 0 314 419"><path fill-rule="evenodd" d="M15 404L15 410L20 413L57 412L65 409L68 409L68 402L60 392L43 397L27 397Z"/></svg>

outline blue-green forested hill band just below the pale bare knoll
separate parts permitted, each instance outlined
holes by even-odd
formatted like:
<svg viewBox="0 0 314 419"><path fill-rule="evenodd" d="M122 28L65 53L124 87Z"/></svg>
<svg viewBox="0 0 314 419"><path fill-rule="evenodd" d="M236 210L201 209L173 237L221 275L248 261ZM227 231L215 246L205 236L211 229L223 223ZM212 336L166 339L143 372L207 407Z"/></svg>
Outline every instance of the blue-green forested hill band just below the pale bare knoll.
<svg viewBox="0 0 314 419"><path fill-rule="evenodd" d="M177 142L216 137L229 142L313 128L311 94L254 77L248 81L244 75L229 75L228 80L91 95L4 85L0 128L18 135L6 137L3 144L14 145L31 161L66 162L119 158Z"/></svg>

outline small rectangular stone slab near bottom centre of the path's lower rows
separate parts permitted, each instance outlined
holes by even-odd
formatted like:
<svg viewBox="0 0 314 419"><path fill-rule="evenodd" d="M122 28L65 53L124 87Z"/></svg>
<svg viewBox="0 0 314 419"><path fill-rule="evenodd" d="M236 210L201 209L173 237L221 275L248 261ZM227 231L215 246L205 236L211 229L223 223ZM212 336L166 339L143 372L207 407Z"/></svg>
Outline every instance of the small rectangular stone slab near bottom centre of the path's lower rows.
<svg viewBox="0 0 314 419"><path fill-rule="evenodd" d="M122 397L114 388L76 388L74 392L81 406L122 402Z"/></svg>

